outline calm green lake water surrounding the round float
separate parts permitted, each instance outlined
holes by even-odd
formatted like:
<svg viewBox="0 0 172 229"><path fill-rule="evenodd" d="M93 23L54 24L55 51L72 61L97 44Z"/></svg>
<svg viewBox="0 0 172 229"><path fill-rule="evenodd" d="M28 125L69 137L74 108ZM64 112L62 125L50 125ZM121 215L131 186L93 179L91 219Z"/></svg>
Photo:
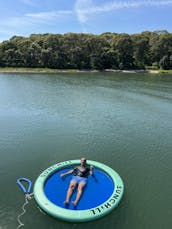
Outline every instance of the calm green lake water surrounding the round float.
<svg viewBox="0 0 172 229"><path fill-rule="evenodd" d="M67 223L32 199L23 228L172 228L172 75L0 73L0 229L18 226L19 177L82 156L120 174L120 205Z"/></svg>

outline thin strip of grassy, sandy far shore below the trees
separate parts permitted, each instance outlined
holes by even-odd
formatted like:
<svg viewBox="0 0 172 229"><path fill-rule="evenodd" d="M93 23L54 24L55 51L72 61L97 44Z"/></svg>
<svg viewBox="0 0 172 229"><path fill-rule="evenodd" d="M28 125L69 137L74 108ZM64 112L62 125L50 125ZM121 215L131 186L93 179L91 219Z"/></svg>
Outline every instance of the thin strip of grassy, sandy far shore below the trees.
<svg viewBox="0 0 172 229"><path fill-rule="evenodd" d="M0 73L96 73L96 72L109 72L109 73L172 73L172 70L150 70L150 69L140 69L140 70L114 70L114 69L104 69L104 70L77 70L77 69L49 69L49 68L0 68Z"/></svg>

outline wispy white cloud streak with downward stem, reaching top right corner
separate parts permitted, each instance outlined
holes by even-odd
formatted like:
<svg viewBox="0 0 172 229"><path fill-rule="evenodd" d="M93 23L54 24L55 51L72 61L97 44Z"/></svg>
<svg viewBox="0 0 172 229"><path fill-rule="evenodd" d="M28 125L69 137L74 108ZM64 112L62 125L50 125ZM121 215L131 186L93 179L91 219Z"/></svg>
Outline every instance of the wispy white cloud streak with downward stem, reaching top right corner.
<svg viewBox="0 0 172 229"><path fill-rule="evenodd" d="M93 14L106 13L125 8L161 7L170 5L172 5L172 0L111 1L101 5L95 5L93 0L77 0L75 3L75 12L78 21L84 24L89 20L89 16Z"/></svg>

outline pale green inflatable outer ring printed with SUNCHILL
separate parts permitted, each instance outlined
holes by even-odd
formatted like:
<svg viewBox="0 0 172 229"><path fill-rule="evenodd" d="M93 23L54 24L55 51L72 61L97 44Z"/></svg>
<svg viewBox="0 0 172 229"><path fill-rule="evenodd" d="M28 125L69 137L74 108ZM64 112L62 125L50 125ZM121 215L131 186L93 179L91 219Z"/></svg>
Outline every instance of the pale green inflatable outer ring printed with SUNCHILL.
<svg viewBox="0 0 172 229"><path fill-rule="evenodd" d="M116 173L113 169L106 166L105 164L87 160L88 165L93 165L95 168L102 170L103 172L107 173L113 180L115 184L114 191L109 199L103 204L88 210L65 209L49 201L44 193L44 184L48 177L50 177L58 170L73 167L78 164L80 164L80 160L70 160L57 163L44 170L39 175L34 184L34 197L41 209L53 217L60 218L69 222L91 221L110 213L115 207L118 206L124 192L124 184L118 173Z"/></svg>

